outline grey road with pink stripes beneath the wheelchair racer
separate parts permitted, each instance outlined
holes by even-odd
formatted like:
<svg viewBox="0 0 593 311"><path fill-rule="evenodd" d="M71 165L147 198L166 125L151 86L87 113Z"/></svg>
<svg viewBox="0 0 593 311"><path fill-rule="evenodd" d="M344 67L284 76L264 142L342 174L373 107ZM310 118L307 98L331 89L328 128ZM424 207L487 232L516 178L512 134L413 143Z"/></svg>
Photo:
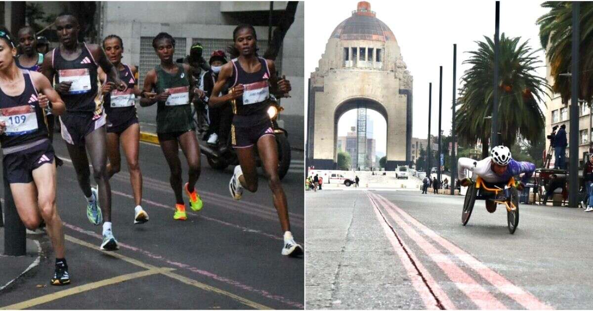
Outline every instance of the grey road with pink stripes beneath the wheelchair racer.
<svg viewBox="0 0 593 311"><path fill-rule="evenodd" d="M307 309L591 309L593 213L419 191L307 191Z"/></svg>

